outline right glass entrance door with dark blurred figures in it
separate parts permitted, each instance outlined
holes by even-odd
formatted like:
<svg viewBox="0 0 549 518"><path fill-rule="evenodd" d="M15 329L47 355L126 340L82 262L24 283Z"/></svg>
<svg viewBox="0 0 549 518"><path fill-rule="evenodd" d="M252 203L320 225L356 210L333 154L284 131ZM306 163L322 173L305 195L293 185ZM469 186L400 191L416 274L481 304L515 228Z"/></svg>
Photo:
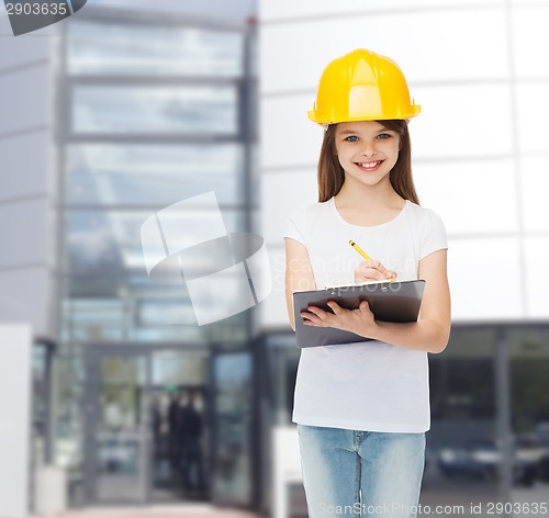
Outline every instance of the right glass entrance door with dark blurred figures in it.
<svg viewBox="0 0 549 518"><path fill-rule="evenodd" d="M154 502L210 499L209 358L203 349L150 354Z"/></svg>

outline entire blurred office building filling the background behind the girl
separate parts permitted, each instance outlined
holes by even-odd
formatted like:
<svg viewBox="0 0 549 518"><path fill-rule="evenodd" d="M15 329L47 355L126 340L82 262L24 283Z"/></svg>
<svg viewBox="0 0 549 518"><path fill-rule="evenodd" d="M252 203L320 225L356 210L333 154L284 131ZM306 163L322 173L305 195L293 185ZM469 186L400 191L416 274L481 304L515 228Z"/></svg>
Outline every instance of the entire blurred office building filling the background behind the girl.
<svg viewBox="0 0 549 518"><path fill-rule="evenodd" d="M430 356L422 504L534 514L549 488L549 65L530 52L549 44L546 2L102 0L16 38L0 22L0 347L29 352L29 505L34 473L55 466L71 507L306 517L284 222L316 201L322 128L306 112L323 67L366 47L423 106L414 174L449 236L453 325ZM227 232L260 234L273 290L198 326L184 285L147 277L139 229L211 191L219 209L181 225L220 210ZM26 404L9 371L2 421Z"/></svg>

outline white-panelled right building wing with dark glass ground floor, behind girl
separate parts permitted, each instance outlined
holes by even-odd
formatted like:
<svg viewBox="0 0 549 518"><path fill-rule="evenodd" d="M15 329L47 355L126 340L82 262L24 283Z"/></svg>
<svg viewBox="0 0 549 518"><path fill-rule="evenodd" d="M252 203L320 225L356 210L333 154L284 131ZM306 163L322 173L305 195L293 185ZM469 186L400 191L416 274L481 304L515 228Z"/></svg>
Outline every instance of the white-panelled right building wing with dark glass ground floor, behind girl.
<svg viewBox="0 0 549 518"><path fill-rule="evenodd" d="M515 516L547 513L549 66L531 49L548 43L549 5L262 0L259 18L262 234L279 266L264 326L287 322L285 223L273 215L317 199L323 132L306 112L321 74L357 47L390 56L422 105L410 124L419 200L449 238L452 333L447 350L429 356L421 502L432 513L449 506L439 509L449 516L473 515L479 503L483 513L489 503L515 503L500 509ZM289 431L299 351L288 330L265 340L273 424ZM292 487L289 516L304 516Z"/></svg>

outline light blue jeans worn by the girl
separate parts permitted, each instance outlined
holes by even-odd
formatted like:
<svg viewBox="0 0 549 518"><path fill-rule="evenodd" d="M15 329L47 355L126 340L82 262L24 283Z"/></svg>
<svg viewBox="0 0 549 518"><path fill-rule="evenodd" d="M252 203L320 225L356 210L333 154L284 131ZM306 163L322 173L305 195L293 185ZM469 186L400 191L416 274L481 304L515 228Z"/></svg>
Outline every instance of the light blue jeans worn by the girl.
<svg viewBox="0 0 549 518"><path fill-rule="evenodd" d="M415 517L425 433L298 425L310 518Z"/></svg>

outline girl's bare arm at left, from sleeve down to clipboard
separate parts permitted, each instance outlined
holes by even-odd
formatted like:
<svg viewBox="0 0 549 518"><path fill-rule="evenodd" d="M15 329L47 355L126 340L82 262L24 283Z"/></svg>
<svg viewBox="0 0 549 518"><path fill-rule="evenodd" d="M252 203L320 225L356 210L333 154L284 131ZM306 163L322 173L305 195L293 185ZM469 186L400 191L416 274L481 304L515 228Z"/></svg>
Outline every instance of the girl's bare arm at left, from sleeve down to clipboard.
<svg viewBox="0 0 549 518"><path fill-rule="evenodd" d="M292 329L295 330L293 322L292 295L296 291L316 290L313 269L309 259L309 252L304 245L287 237L285 239L285 303L288 316Z"/></svg>

